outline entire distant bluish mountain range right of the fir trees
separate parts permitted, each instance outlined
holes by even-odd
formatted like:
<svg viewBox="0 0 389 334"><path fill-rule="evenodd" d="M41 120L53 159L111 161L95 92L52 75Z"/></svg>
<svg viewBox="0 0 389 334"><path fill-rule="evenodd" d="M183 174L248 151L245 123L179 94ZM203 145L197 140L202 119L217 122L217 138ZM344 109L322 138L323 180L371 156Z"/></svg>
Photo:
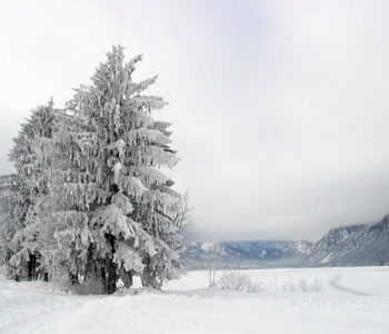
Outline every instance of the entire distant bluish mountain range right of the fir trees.
<svg viewBox="0 0 389 334"><path fill-rule="evenodd" d="M216 254L216 256L215 256ZM188 268L372 266L389 265L389 215L376 224L339 227L320 240L191 243L182 254Z"/></svg>

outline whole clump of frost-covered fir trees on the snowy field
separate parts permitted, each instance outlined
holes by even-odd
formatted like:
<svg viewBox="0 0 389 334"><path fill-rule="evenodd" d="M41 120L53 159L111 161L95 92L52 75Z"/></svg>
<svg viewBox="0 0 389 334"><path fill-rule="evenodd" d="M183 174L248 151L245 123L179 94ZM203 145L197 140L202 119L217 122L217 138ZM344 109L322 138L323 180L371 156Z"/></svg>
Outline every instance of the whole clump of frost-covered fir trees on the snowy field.
<svg viewBox="0 0 389 334"><path fill-rule="evenodd" d="M113 293L139 275L160 288L180 269L182 207L173 181L169 124L152 112L162 98L143 95L157 77L132 80L137 56L113 47L66 110L52 101L22 125L0 179L0 264L16 278L68 276ZM182 210L183 208L183 210Z"/></svg>

